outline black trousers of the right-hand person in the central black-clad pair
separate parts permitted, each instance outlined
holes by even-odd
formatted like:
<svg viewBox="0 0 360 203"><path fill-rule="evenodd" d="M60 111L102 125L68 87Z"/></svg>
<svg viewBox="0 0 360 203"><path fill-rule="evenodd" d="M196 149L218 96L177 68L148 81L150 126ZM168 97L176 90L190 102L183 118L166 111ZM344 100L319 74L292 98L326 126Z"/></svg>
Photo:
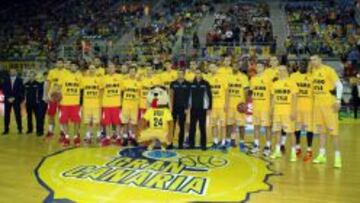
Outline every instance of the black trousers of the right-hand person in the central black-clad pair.
<svg viewBox="0 0 360 203"><path fill-rule="evenodd" d="M206 109L191 109L190 111L190 148L195 147L196 126L199 122L201 149L206 149Z"/></svg>

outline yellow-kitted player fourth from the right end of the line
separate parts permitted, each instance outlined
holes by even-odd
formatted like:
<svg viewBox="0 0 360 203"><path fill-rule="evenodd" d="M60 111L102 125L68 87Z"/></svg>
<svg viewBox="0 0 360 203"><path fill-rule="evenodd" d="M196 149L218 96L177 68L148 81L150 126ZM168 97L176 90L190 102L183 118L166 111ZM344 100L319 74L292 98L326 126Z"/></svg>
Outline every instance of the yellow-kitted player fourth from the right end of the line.
<svg viewBox="0 0 360 203"><path fill-rule="evenodd" d="M264 75L264 65L257 64L256 76L250 80L250 90L253 101L253 125L254 125L254 146L251 153L257 153L260 148L260 128L265 129L266 144L264 147L264 156L270 155L271 147L271 129L270 129L270 94L272 81Z"/></svg>

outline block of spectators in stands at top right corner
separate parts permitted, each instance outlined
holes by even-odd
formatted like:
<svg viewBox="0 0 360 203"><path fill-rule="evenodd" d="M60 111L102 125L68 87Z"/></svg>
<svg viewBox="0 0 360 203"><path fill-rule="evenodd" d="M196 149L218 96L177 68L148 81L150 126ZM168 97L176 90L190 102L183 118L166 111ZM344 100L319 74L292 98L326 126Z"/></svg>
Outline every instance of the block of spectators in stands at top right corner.
<svg viewBox="0 0 360 203"><path fill-rule="evenodd" d="M285 41L289 53L360 58L360 1L323 1L285 6L290 36Z"/></svg>

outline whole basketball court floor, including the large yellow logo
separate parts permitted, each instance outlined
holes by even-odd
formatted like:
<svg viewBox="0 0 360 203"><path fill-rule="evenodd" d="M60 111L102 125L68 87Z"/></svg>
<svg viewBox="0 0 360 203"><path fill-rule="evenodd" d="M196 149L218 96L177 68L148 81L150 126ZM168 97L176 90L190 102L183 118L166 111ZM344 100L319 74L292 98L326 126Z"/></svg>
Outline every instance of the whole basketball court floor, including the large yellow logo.
<svg viewBox="0 0 360 203"><path fill-rule="evenodd" d="M360 122L343 121L340 132L341 169L331 139L328 163L314 165L290 163L289 150L272 161L238 149L64 149L12 133L0 136L0 202L359 202Z"/></svg>

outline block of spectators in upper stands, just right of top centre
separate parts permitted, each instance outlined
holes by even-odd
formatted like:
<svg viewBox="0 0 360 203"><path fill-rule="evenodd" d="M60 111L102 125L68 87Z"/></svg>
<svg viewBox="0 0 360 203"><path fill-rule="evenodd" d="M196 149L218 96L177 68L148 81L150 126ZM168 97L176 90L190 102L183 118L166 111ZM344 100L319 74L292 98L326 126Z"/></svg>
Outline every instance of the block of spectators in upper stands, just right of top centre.
<svg viewBox="0 0 360 203"><path fill-rule="evenodd" d="M251 45L274 41L269 7L265 3L236 3L214 16L214 24L206 39L208 45Z"/></svg>

